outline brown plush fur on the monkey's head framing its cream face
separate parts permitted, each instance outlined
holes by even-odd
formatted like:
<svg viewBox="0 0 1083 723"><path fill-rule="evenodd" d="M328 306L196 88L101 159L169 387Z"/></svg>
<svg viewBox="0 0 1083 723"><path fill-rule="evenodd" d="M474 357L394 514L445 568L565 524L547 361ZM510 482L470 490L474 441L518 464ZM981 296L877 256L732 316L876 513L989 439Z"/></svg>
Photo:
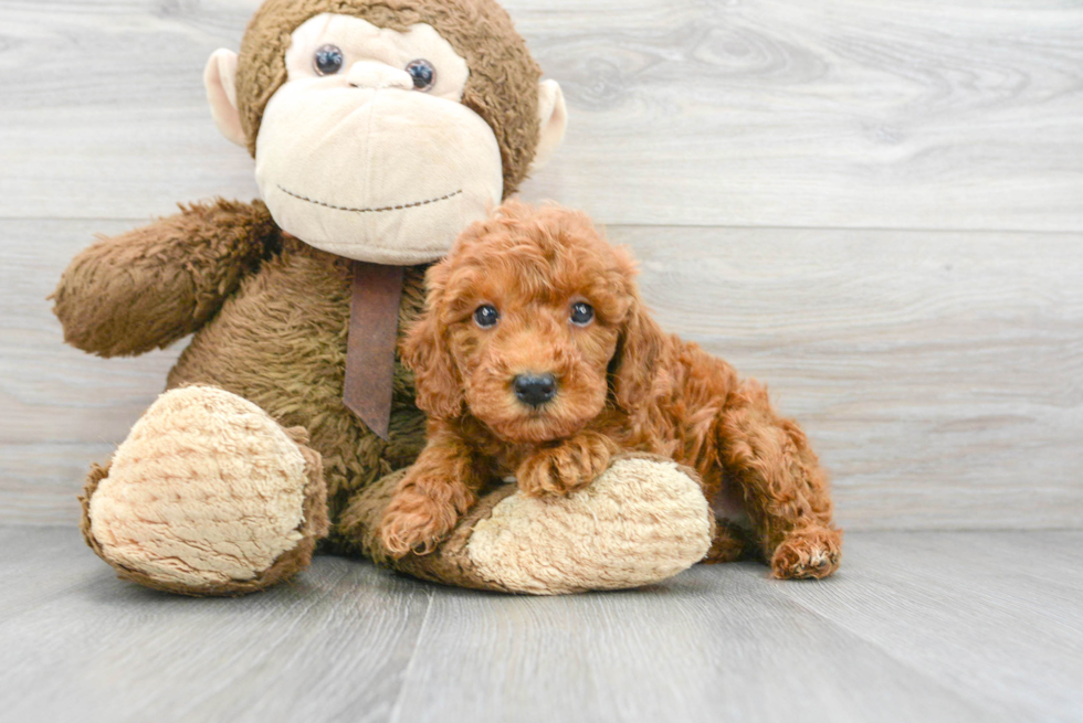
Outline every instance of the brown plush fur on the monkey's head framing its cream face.
<svg viewBox="0 0 1083 723"><path fill-rule="evenodd" d="M398 31L416 23L435 28L466 60L470 78L463 105L496 135L504 195L515 192L537 149L542 68L507 12L492 0L267 0L244 34L236 75L241 125L253 156L263 109L286 81L290 35L322 12L355 15Z"/></svg>

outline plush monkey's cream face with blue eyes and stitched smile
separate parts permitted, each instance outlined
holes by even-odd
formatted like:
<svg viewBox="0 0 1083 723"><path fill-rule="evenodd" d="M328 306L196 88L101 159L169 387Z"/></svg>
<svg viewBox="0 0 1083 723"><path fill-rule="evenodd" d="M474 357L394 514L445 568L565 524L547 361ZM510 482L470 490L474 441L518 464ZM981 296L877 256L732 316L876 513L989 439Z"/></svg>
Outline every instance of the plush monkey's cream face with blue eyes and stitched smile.
<svg viewBox="0 0 1083 723"><path fill-rule="evenodd" d="M317 15L293 33L286 70L256 139L256 181L283 230L417 264L501 202L496 138L461 104L466 61L430 25Z"/></svg>

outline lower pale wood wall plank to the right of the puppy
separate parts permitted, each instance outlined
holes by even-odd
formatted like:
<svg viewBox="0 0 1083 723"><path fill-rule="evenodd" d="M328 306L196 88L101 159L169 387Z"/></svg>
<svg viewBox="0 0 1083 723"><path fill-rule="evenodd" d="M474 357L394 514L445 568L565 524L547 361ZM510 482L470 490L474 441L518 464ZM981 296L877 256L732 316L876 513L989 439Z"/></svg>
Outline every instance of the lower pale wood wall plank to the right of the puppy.
<svg viewBox="0 0 1083 723"><path fill-rule="evenodd" d="M663 326L766 381L851 529L1083 523L1083 251L1056 234L614 227Z"/></svg>

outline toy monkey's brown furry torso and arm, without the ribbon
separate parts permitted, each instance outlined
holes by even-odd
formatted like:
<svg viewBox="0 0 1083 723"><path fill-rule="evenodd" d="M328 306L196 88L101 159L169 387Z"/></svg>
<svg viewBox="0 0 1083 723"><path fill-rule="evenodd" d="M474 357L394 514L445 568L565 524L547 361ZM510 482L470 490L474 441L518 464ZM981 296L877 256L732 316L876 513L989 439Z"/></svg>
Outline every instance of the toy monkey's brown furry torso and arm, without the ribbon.
<svg viewBox="0 0 1083 723"><path fill-rule="evenodd" d="M423 272L407 269L400 329L421 310ZM389 442L343 405L350 262L284 236L261 202L192 205L101 241L72 262L53 298L69 343L103 357L194 331L168 387L219 386L305 428L323 457L333 521L424 445L413 375L400 363Z"/></svg>

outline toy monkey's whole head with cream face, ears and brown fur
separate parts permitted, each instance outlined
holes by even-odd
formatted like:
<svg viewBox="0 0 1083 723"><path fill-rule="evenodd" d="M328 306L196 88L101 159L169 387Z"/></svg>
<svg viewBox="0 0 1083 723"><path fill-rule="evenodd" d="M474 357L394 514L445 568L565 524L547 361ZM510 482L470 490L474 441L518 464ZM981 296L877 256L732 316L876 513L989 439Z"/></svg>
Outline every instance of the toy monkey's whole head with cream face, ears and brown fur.
<svg viewBox="0 0 1083 723"><path fill-rule="evenodd" d="M548 160L567 113L540 77L493 0L266 0L204 74L275 222L392 265L443 256Z"/></svg>

